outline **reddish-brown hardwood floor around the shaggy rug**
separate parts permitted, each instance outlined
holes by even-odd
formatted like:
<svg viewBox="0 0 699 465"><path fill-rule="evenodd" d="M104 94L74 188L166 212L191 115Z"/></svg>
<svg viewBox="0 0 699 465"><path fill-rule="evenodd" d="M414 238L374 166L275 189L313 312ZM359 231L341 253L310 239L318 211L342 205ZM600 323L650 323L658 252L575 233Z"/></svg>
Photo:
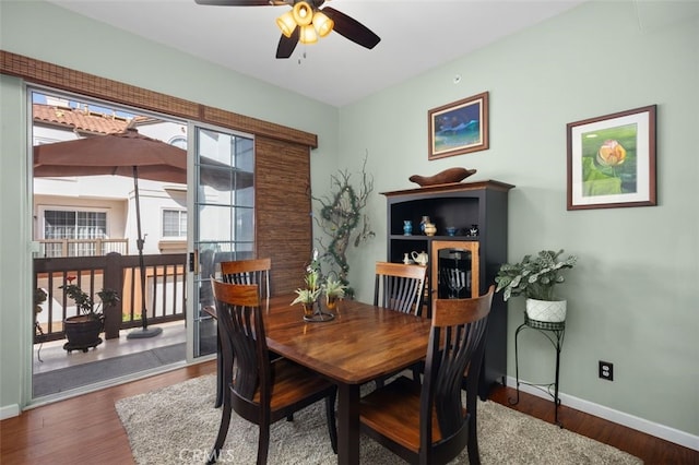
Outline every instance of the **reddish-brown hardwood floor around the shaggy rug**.
<svg viewBox="0 0 699 465"><path fill-rule="evenodd" d="M0 422L0 463L132 464L129 440L115 410L115 402L214 372L215 361L209 361L26 410L19 417ZM508 396L512 394L513 390L509 388L497 388L490 398L509 405ZM549 401L525 393L520 395L517 409L548 422L554 420ZM559 420L567 429L614 445L648 465L699 465L697 451L566 406L559 409Z"/></svg>

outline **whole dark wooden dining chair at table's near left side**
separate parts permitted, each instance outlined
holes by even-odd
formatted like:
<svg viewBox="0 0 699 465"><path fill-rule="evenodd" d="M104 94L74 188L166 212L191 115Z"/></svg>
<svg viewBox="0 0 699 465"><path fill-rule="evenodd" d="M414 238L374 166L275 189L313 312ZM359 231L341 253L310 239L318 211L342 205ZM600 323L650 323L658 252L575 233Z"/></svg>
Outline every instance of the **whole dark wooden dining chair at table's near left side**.
<svg viewBox="0 0 699 465"><path fill-rule="evenodd" d="M221 425L209 463L215 463L221 454L233 412L258 425L257 463L263 465L270 445L270 426L323 398L330 442L337 453L336 386L286 358L270 358L258 285L229 284L213 277L211 284L218 333L226 342L222 344L223 362L230 367L226 372L233 374L226 380Z"/></svg>

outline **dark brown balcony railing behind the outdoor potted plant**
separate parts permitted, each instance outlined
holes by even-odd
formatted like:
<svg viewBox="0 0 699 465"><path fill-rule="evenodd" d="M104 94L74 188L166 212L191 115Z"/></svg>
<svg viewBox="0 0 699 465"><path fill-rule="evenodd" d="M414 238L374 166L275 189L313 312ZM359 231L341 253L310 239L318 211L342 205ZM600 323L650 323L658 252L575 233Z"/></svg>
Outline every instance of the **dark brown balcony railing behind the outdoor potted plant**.
<svg viewBox="0 0 699 465"><path fill-rule="evenodd" d="M186 253L144 255L145 307L149 324L182 320L186 309ZM75 303L60 286L71 283L99 302L103 288L116 289L121 301L104 310L105 337L142 324L141 269L138 255L34 259L34 283L47 294L36 313L35 343L64 338L63 320L78 314Z"/></svg>

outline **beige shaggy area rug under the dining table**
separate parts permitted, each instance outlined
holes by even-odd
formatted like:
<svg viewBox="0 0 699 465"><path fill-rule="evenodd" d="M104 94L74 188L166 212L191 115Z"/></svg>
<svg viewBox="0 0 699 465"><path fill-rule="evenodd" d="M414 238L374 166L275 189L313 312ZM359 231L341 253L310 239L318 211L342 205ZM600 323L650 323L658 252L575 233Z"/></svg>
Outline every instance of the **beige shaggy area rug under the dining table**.
<svg viewBox="0 0 699 465"><path fill-rule="evenodd" d="M205 375L162 390L122 398L116 409L137 464L203 464L213 445L221 409L214 408L215 377ZM258 429L234 413L220 463L253 464ZM481 461L489 464L641 464L625 452L507 408L478 401ZM362 436L362 464L403 464ZM325 426L324 403L277 421L271 429L268 463L336 464ZM467 453L453 464L467 464Z"/></svg>

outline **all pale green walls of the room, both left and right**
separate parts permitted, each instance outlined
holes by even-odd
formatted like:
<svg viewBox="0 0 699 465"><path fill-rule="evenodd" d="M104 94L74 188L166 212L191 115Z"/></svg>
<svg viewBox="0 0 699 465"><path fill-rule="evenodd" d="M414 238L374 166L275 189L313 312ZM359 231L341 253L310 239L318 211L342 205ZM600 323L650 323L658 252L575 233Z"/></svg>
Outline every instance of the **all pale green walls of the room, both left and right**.
<svg viewBox="0 0 699 465"><path fill-rule="evenodd" d="M370 300L386 257L386 199L411 175L452 166L510 191L509 257L564 248L579 255L560 294L569 300L561 361L565 401L655 422L699 448L699 20L696 2L591 2L356 104L333 108L142 40L44 2L0 3L2 49L319 134L312 188L356 172L368 153L368 205L377 237L348 257L358 298ZM36 31L61 25L43 40ZM90 47L84 40L90 32ZM74 32L74 33L68 33ZM76 52L75 50L80 50ZM135 64L134 64L135 63ZM454 75L462 76L459 84ZM206 75L206 85L200 85ZM490 148L427 160L427 111L490 93ZM0 407L26 401L31 362L26 116L21 83L0 81ZM657 105L654 207L566 211L566 123ZM303 107L304 111L298 111ZM20 192L19 201L17 194ZM9 224L10 222L11 224ZM17 227L17 225L20 227ZM21 289L22 293L8 293ZM510 342L523 301L509 305ZM22 321L17 321L21 319ZM522 342L531 380L553 374L550 346ZM597 360L615 365L597 379ZM513 344L509 374L514 374ZM580 407L579 407L580 408ZM4 413L4 412L3 412Z"/></svg>

